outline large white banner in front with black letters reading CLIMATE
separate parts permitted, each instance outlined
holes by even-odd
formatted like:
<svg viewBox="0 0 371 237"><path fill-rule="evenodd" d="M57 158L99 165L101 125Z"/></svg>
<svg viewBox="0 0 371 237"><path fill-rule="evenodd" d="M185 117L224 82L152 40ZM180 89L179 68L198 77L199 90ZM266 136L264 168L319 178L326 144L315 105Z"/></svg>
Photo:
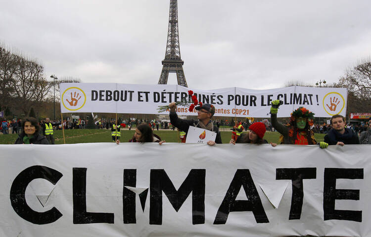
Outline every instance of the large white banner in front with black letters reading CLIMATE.
<svg viewBox="0 0 371 237"><path fill-rule="evenodd" d="M370 145L0 150L0 236L371 235Z"/></svg>

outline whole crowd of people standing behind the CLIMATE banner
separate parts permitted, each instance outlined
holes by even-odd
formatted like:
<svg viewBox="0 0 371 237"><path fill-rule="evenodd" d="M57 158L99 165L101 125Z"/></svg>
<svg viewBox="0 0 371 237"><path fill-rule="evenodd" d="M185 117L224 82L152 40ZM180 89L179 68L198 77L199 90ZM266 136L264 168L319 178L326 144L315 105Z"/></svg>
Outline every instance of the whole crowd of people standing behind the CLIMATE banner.
<svg viewBox="0 0 371 237"><path fill-rule="evenodd" d="M264 119L261 122L255 122L248 125L246 122L234 123L232 128L233 135L230 141L231 144L236 143L251 143L251 144L266 144L268 141L264 139L264 134L267 130L275 130L280 133L279 144L291 145L319 145L320 148L327 148L328 145L346 144L371 144L371 119L364 124L346 124L345 118L341 115L334 115L330 119L330 124L313 124L314 113L304 107L299 107L294 110L287 124L278 122L277 113L280 105L279 100L272 101L270 110L271 122ZM161 120L149 119L128 119L122 123L116 123L115 119L101 119L95 122L97 128L111 129L112 141L120 143L121 129L128 127L131 130L132 124L136 124L135 134L129 142L158 142L160 145L165 142L154 134L155 129L169 129L170 126L178 128L181 134L182 142L185 138L190 126L207 129L215 132L215 140L207 141L207 144L214 146L222 143L219 127L222 124L228 123L228 120L213 120L215 107L211 104L198 105L194 109L197 111L197 119L182 119L176 113L176 104L169 104L170 122ZM0 127L2 134L11 133L19 134L16 144L54 144L54 130L62 129L84 129L86 128L87 120L75 119L74 121L64 120L50 121L49 118L38 121L36 118L0 119ZM139 123L140 122L140 123ZM229 123L230 124L230 123ZM233 125L233 124L232 124ZM248 134L243 134L243 129L249 129ZM315 132L325 133L323 142L318 143L314 136ZM276 143L271 143L272 146L277 146Z"/></svg>

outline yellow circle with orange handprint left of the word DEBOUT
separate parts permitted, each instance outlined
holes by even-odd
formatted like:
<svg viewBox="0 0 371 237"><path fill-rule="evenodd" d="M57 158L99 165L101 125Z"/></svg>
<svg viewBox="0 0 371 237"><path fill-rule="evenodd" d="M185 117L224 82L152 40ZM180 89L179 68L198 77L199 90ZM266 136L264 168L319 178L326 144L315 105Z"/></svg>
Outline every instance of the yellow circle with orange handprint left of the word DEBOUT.
<svg viewBox="0 0 371 237"><path fill-rule="evenodd" d="M85 102L86 94L78 87L67 88L62 94L62 104L67 110L80 110L85 105Z"/></svg>

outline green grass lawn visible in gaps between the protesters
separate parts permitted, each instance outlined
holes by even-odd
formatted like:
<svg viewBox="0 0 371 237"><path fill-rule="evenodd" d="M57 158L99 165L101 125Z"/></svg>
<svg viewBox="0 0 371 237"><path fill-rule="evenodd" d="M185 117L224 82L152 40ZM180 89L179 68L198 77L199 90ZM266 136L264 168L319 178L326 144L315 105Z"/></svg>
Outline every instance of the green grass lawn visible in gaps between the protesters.
<svg viewBox="0 0 371 237"><path fill-rule="evenodd" d="M154 131L155 134L161 137L166 142L179 142L178 132L173 130L159 130ZM246 132L244 132L246 133ZM112 142L111 130L107 129L73 129L64 130L66 143L92 143L92 142ZM121 142L129 141L134 135L134 130L122 130L121 131ZM222 142L229 143L231 140L231 131L221 131ZM324 140L325 134L316 133L315 137L317 142ZM14 144L17 139L17 134L0 134L0 144ZM54 131L55 144L63 144L63 134L61 130ZM266 132L264 138L268 142L278 143L279 133L278 132Z"/></svg>

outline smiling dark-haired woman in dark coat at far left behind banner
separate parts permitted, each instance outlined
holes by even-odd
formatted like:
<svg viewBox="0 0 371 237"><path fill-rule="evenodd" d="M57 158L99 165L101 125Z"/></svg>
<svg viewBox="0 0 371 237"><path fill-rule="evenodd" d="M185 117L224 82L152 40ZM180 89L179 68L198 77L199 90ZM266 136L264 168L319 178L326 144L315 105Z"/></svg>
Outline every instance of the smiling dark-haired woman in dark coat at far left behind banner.
<svg viewBox="0 0 371 237"><path fill-rule="evenodd" d="M40 126L36 118L26 118L22 122L22 132L14 144L44 144L48 145L46 137L40 135Z"/></svg>

